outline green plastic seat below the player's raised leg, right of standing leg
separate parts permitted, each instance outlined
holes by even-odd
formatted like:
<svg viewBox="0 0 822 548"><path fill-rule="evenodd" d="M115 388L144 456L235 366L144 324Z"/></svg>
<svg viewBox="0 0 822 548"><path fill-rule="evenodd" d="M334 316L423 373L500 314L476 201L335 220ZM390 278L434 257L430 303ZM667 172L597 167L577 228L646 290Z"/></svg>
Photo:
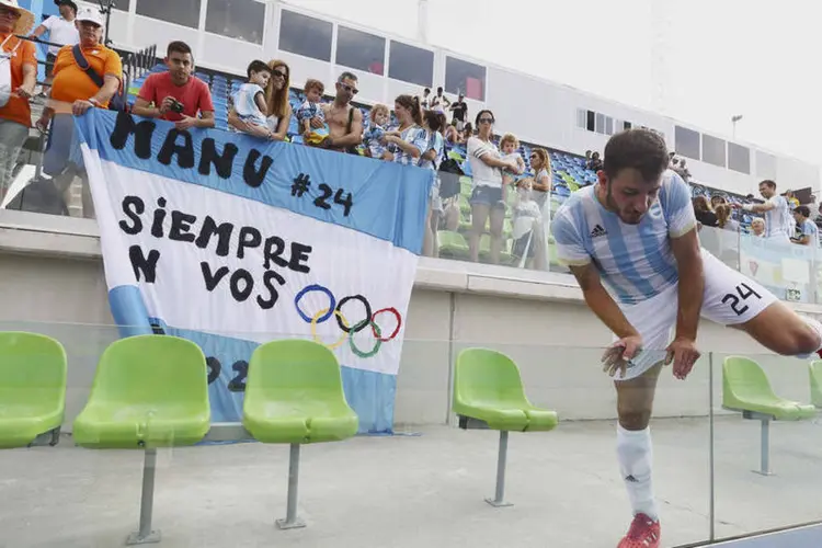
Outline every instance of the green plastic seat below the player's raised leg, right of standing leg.
<svg viewBox="0 0 822 548"><path fill-rule="evenodd" d="M776 396L762 367L743 356L728 356L722 364L722 407L770 415L777 421L801 421L817 414L813 406Z"/></svg>

